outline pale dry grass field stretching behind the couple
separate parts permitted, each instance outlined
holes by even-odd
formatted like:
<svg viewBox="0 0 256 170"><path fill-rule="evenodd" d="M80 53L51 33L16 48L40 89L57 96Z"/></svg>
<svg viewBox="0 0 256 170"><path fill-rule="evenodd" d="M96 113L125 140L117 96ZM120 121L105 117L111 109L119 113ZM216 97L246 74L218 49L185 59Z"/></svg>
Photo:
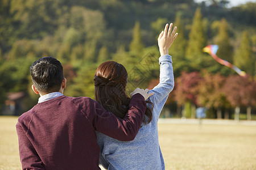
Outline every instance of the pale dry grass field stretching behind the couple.
<svg viewBox="0 0 256 170"><path fill-rule="evenodd" d="M17 118L0 116L0 170L21 169ZM256 126L160 123L159 142L166 169L256 169Z"/></svg>

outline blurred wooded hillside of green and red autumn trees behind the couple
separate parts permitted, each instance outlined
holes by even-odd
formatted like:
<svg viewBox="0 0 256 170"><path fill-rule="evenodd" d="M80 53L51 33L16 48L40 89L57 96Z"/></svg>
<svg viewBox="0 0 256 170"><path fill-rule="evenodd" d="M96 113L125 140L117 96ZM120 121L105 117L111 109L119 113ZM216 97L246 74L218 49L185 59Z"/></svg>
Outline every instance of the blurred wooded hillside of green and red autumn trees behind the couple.
<svg viewBox="0 0 256 170"><path fill-rule="evenodd" d="M107 60L126 67L127 93L135 87L154 87L159 76L156 38L164 24L173 22L179 32L170 50L176 84L166 105L174 115L167 116L195 117L195 109L202 106L209 108L209 118L232 118L234 108L241 108L250 119L249 113L255 114L256 96L256 3L232 8L228 3L2 0L1 113L5 113L10 92L27 95L18 114L36 104L38 96L30 90L28 67L44 56L63 63L68 96L94 98L94 71ZM219 45L217 55L246 71L247 78L238 78L232 69L203 53L208 44Z"/></svg>

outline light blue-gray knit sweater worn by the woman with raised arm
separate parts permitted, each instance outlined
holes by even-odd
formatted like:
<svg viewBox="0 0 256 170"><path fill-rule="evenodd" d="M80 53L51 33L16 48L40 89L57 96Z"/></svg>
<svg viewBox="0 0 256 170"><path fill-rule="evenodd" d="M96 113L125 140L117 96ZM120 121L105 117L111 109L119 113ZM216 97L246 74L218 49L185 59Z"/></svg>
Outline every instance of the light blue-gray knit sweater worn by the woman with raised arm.
<svg viewBox="0 0 256 170"><path fill-rule="evenodd" d="M150 90L155 94L148 98L154 104L152 121L143 125L135 139L129 142L121 142L102 133L96 133L100 146L100 164L104 168L165 169L158 141L158 118L168 95L174 88L174 73L171 56L161 56L159 64L160 82Z"/></svg>

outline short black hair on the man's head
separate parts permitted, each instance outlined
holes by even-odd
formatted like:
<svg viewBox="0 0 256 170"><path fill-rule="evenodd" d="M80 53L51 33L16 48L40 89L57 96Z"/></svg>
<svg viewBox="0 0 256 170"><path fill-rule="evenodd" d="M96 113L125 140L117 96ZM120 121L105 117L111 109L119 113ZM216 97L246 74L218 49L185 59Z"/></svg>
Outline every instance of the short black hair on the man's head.
<svg viewBox="0 0 256 170"><path fill-rule="evenodd" d="M63 82L63 66L53 57L43 57L30 66L34 86L39 92L49 94L58 92Z"/></svg>

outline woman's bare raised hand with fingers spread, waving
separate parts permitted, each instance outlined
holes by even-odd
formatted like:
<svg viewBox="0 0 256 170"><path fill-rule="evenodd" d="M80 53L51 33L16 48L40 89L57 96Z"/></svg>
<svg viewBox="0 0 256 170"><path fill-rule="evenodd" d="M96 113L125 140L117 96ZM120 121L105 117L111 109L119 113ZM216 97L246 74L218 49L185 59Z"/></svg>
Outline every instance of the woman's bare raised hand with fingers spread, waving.
<svg viewBox="0 0 256 170"><path fill-rule="evenodd" d="M166 55L168 54L168 50L172 45L172 42L177 37L178 33L175 33L177 27L174 27L174 30L172 31L172 23L170 24L170 27L168 29L168 24L166 24L166 27L164 27L164 31L162 31L158 37L158 46L159 46L159 52L160 55ZM167 32L168 29L168 32ZM174 35L175 34L175 35Z"/></svg>

